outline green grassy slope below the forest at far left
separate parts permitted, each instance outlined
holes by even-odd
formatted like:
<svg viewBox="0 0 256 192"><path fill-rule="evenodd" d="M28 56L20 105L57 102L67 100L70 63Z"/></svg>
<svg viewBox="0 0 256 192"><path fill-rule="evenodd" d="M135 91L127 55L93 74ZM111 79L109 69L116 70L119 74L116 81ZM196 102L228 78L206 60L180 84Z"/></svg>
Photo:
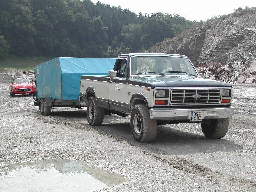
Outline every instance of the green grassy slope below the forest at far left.
<svg viewBox="0 0 256 192"><path fill-rule="evenodd" d="M12 68L20 70L34 70L36 65L43 63L45 61L51 60L53 58L47 57L19 57L14 55L9 55L3 60L0 60L0 68Z"/></svg>

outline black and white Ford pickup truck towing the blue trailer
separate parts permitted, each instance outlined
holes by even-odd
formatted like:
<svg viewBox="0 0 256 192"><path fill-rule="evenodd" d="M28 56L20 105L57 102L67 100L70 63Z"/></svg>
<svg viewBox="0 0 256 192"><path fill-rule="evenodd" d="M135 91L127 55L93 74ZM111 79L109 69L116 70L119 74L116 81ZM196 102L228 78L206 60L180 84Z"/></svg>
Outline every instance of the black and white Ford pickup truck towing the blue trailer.
<svg viewBox="0 0 256 192"><path fill-rule="evenodd" d="M159 53L119 55L108 76L82 76L80 100L90 125L104 115L131 115L135 140L151 142L157 125L201 123L207 138L228 131L232 86L199 76L188 57Z"/></svg>

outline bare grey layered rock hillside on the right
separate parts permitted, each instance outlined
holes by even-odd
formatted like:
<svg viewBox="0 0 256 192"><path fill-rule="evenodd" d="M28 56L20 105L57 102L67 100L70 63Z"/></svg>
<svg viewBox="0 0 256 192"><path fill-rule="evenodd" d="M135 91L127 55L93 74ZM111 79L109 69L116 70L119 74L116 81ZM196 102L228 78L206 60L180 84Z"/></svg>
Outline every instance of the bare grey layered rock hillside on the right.
<svg viewBox="0 0 256 192"><path fill-rule="evenodd" d="M199 22L180 35L166 39L148 52L187 55L193 63L256 60L256 8Z"/></svg>

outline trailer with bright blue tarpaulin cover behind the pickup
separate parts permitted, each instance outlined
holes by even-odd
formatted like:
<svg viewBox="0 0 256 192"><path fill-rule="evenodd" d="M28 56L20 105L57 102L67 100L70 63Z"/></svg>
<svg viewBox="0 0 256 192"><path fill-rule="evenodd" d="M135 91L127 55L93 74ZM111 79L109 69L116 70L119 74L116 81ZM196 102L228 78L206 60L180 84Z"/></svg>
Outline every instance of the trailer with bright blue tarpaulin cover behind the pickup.
<svg viewBox="0 0 256 192"><path fill-rule="evenodd" d="M57 57L35 67L36 97L34 105L43 115L50 115L52 107L86 107L79 100L82 75L108 75L115 58Z"/></svg>

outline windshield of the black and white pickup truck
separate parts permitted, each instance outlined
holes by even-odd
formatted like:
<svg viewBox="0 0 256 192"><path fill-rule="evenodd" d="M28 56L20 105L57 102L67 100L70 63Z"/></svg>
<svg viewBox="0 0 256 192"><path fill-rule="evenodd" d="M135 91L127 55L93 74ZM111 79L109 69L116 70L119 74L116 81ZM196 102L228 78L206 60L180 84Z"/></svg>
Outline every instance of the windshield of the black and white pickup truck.
<svg viewBox="0 0 256 192"><path fill-rule="evenodd" d="M131 58L131 75L198 76L187 58L171 56L139 56Z"/></svg>

